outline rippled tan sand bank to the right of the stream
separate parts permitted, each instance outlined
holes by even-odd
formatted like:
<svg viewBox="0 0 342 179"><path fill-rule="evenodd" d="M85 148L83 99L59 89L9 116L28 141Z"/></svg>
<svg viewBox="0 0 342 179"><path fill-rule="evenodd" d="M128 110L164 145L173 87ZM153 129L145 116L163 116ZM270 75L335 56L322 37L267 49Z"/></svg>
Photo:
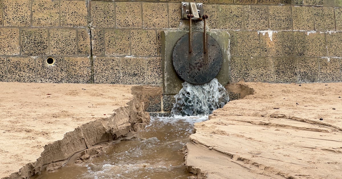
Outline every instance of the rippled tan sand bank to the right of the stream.
<svg viewBox="0 0 342 179"><path fill-rule="evenodd" d="M341 82L241 84L254 94L195 124L185 156L190 171L203 178L342 178Z"/></svg>

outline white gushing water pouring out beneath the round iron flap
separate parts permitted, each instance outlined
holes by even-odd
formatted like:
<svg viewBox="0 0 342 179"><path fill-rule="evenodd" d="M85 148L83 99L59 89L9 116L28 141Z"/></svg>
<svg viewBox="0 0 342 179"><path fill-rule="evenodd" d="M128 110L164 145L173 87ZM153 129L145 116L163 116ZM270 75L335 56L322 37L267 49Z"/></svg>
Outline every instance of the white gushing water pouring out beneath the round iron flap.
<svg viewBox="0 0 342 179"><path fill-rule="evenodd" d="M209 115L229 101L226 89L216 78L202 85L184 82L182 86L183 88L174 96L176 103L171 114L175 116Z"/></svg>

